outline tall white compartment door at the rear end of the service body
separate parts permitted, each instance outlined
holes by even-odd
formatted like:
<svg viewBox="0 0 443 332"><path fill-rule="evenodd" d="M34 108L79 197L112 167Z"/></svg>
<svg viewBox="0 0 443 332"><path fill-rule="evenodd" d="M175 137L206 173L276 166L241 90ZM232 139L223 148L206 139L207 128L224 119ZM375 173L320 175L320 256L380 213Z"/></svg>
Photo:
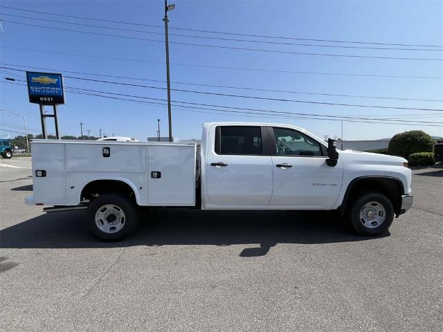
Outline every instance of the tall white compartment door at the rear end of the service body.
<svg viewBox="0 0 443 332"><path fill-rule="evenodd" d="M34 142L32 147L35 203L65 205L64 144ZM45 171L46 176L37 177L37 170Z"/></svg>

